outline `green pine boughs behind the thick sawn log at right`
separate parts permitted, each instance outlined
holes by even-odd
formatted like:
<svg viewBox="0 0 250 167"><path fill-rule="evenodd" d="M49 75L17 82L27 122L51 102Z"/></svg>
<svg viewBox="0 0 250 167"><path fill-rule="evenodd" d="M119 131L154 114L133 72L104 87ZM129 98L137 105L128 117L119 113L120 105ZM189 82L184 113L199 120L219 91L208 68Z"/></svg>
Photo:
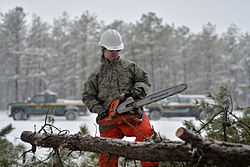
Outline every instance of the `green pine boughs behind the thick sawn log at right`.
<svg viewBox="0 0 250 167"><path fill-rule="evenodd" d="M232 97L226 87L220 87L217 94L208 97L212 101L197 102L205 122L195 126L192 121L185 121L186 127L215 140L250 144L249 111L246 109L240 115L234 112Z"/></svg>

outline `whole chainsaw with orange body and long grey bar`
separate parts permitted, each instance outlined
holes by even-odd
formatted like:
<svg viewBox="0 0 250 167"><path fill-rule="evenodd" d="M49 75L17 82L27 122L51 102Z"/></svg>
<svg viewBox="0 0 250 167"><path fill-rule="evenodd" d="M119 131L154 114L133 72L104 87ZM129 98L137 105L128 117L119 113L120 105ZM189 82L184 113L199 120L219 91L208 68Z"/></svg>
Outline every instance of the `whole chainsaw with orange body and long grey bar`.
<svg viewBox="0 0 250 167"><path fill-rule="evenodd" d="M173 96L187 89L186 84L176 85L171 88L164 89L154 94L148 95L142 99L134 100L132 97L128 97L125 100L115 99L111 102L109 107L109 116L98 120L99 125L119 125L126 121L137 121L141 119L141 116L136 112L136 109L151 104L153 102L162 100L169 96Z"/></svg>

